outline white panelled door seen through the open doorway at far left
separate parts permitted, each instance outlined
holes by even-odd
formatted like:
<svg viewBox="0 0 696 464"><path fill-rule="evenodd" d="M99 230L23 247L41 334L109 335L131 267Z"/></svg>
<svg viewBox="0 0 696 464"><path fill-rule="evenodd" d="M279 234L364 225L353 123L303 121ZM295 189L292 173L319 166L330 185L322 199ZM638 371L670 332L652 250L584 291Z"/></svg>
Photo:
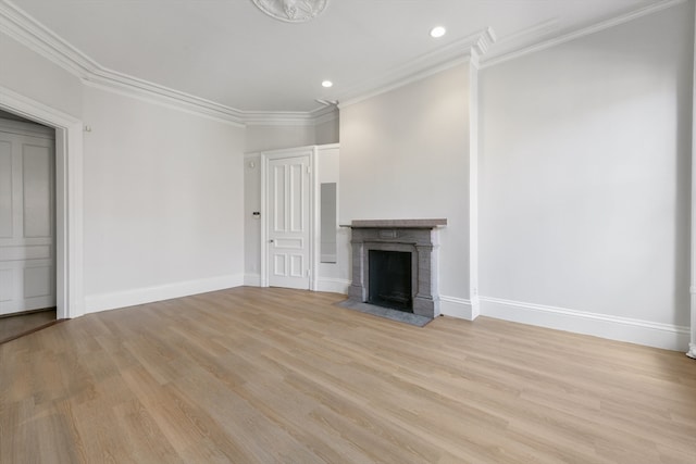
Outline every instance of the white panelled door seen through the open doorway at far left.
<svg viewBox="0 0 696 464"><path fill-rule="evenodd" d="M55 306L54 143L0 121L0 315Z"/></svg>

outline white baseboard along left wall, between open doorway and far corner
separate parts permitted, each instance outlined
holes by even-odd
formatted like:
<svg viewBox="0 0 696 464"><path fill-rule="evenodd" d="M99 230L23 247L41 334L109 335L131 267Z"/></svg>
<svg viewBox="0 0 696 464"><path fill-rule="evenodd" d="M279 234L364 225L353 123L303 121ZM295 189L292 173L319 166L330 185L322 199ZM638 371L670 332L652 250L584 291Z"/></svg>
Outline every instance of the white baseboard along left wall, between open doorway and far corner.
<svg viewBox="0 0 696 464"><path fill-rule="evenodd" d="M142 287L113 293L90 294L85 297L85 314L240 287L244 281L245 277L241 274L237 274Z"/></svg>

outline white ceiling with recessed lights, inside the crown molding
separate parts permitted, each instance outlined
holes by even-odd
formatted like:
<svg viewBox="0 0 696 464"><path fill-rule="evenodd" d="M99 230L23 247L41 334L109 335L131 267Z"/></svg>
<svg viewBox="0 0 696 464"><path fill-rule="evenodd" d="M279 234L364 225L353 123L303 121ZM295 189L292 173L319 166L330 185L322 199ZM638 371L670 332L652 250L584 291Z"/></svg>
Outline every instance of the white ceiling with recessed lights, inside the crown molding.
<svg viewBox="0 0 696 464"><path fill-rule="evenodd" d="M10 3L7 0L2 2ZM484 59L666 0L330 0L284 23L252 0L12 0L100 67L241 111L312 111L497 37ZM447 35L433 39L435 25ZM460 50L461 49L461 50ZM335 83L321 87L323 79Z"/></svg>

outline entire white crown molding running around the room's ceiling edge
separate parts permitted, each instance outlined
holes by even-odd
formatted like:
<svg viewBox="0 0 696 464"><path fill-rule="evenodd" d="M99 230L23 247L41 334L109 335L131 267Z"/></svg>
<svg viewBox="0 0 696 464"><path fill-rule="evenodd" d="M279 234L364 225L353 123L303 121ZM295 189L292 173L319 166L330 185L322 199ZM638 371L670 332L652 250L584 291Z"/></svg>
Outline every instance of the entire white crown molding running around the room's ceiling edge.
<svg viewBox="0 0 696 464"><path fill-rule="evenodd" d="M425 53L384 75L363 81L340 95L345 108L377 95L394 90L405 85L421 80L463 63L471 63L477 67L488 67L505 61L513 60L529 53L545 50L557 45L595 34L610 27L643 17L687 0L662 0L659 3L642 8L634 12L618 16L593 26L555 37L550 40L536 42L532 46L520 46L517 50L496 54L492 49L496 43L496 35L490 27L453 41L433 52ZM499 41L506 46L504 50L514 48L514 42L540 40L557 29L555 20L539 23L535 26L515 33ZM189 93L160 86L137 77L128 76L104 66L84 54L82 51L52 33L48 27L33 18L11 0L0 0L0 32L7 34L32 51L48 59L63 70L82 79L86 85L112 90L145 101L163 104L167 108L183 110L192 114L203 115L216 121L235 125L316 125L337 117L335 108L319 108L312 111L274 112L274 111L241 111L232 106L206 100ZM486 58L483 58L486 55Z"/></svg>

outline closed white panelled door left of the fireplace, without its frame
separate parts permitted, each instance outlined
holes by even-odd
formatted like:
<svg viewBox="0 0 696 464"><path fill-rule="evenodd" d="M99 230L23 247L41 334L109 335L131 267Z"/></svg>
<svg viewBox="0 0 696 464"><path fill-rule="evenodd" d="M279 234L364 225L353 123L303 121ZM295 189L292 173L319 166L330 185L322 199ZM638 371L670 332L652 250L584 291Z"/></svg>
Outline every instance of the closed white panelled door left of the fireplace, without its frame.
<svg viewBox="0 0 696 464"><path fill-rule="evenodd" d="M269 285L309 289L310 156L269 160L266 186Z"/></svg>

